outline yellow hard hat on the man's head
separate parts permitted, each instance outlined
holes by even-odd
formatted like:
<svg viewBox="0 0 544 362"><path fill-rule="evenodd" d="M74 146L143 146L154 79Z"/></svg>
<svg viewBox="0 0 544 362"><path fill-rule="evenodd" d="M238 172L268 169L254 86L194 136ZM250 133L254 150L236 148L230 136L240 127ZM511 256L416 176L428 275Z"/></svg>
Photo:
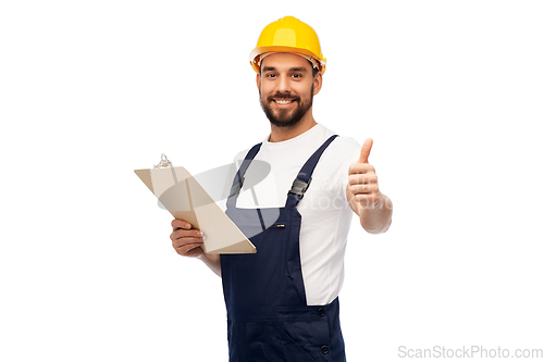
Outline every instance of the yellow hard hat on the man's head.
<svg viewBox="0 0 544 362"><path fill-rule="evenodd" d="M257 73L262 54L270 52L289 52L310 58L321 73L325 73L326 59L321 52L318 35L308 24L296 17L282 17L262 29L257 47L249 54L249 63Z"/></svg>

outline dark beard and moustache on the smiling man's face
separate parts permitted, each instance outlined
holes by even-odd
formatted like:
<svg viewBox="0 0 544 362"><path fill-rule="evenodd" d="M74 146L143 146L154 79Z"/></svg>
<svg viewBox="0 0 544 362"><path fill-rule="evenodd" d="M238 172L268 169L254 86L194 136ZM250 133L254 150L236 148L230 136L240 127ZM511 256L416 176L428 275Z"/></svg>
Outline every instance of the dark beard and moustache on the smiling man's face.
<svg viewBox="0 0 544 362"><path fill-rule="evenodd" d="M297 103L297 107L294 110L273 109L271 104L274 102L274 98L293 99L293 102ZM276 127L292 127L299 123L308 112L308 110L311 108L313 103L313 85L311 87L310 98L306 101L302 101L300 97L296 95L276 93L267 97L267 102L263 102L260 92L259 101L270 123L272 123Z"/></svg>

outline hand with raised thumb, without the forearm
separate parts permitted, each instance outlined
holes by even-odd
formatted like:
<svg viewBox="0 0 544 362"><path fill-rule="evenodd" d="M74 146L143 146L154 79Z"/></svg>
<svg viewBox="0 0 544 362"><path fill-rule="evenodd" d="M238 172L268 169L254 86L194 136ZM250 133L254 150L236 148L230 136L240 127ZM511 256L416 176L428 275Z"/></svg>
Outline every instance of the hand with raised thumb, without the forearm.
<svg viewBox="0 0 544 362"><path fill-rule="evenodd" d="M371 138L364 141L359 160L349 166L348 174L348 200L358 202L364 209L376 207L381 200L378 176L374 166L369 164L372 143Z"/></svg>

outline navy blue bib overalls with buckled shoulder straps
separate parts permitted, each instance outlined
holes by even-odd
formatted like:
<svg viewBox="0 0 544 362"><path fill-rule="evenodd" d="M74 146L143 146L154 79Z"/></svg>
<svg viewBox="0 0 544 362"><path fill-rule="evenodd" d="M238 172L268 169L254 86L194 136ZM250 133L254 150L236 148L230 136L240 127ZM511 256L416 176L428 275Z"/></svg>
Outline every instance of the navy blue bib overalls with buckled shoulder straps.
<svg viewBox="0 0 544 362"><path fill-rule="evenodd" d="M302 217L297 210L321 154L335 137L329 138L308 159L284 208L236 208L244 175L260 143L248 152L236 174L226 214L246 235L255 235L250 240L257 253L221 255L231 362L346 360L338 299L326 305L306 302L299 251ZM280 216L267 228L263 220L267 213L274 212Z"/></svg>

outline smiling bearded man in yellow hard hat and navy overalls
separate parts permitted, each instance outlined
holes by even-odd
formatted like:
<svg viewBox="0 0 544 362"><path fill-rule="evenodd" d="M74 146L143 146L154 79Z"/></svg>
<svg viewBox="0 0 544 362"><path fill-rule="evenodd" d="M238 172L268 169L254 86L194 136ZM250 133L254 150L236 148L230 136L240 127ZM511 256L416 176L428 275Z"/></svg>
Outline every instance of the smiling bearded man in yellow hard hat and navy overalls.
<svg viewBox="0 0 544 362"><path fill-rule="evenodd" d="M351 212L372 234L387 230L392 220L368 163L372 140L361 148L314 121L325 59L307 24L286 16L268 25L250 64L271 133L236 157L243 162L226 214L246 235L267 215L274 223L250 237L256 254L205 254L206 236L181 220L172 222L173 247L222 276L232 362L345 361L337 296ZM252 160L268 162L271 173L243 191L255 177Z"/></svg>

